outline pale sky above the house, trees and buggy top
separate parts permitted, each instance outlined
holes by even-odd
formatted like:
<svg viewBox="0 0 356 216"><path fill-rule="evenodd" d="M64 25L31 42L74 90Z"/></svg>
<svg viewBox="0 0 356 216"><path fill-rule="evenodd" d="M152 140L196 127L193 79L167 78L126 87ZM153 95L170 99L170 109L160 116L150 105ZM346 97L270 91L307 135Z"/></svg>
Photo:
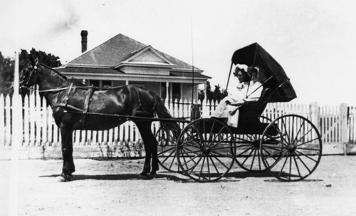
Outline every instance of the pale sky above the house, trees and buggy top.
<svg viewBox="0 0 356 216"><path fill-rule="evenodd" d="M62 63L117 34L204 70L226 88L231 56L257 42L283 66L295 103L356 106L356 2L345 0L0 0L0 51L52 53ZM231 86L229 86L231 88Z"/></svg>

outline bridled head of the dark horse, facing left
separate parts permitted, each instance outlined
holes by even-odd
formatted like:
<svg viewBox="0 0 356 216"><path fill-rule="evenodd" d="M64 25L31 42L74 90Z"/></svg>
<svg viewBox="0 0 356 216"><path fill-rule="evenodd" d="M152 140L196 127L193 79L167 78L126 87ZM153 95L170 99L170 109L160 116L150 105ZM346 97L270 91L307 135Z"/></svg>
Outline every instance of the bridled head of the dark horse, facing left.
<svg viewBox="0 0 356 216"><path fill-rule="evenodd" d="M30 62L20 71L20 86L30 87L38 84L38 58L29 55Z"/></svg>

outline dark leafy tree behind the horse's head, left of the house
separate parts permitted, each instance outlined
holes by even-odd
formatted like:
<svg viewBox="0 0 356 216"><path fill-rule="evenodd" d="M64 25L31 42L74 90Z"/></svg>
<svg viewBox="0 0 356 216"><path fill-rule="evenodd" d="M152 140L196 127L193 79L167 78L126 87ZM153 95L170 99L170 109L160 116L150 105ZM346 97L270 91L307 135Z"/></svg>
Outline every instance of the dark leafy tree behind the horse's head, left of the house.
<svg viewBox="0 0 356 216"><path fill-rule="evenodd" d="M38 58L38 60L50 67L61 66L61 61L58 56L54 56L51 53L45 53L43 51L36 51L32 48L29 52L33 58ZM28 52L21 49L19 54L19 70L21 71L24 66L28 63ZM14 92L14 69L15 61L14 58L4 58L0 52L0 93L12 94Z"/></svg>

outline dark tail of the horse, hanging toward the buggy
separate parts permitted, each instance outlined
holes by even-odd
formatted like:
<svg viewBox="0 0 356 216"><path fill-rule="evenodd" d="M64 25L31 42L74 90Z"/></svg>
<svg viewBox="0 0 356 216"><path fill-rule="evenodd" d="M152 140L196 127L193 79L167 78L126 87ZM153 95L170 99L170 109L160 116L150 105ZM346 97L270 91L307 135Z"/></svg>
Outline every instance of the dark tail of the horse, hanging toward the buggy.
<svg viewBox="0 0 356 216"><path fill-rule="evenodd" d="M164 106L164 103L157 94L154 92L150 91L151 95L155 98L155 107L154 111L155 114L157 115L158 118L167 118L167 119L172 119L172 115L169 113L167 108ZM177 122L174 121L166 121L166 120L161 120L160 121L162 128L164 130L171 130L174 133L174 136L178 138L181 129L179 128L179 125Z"/></svg>

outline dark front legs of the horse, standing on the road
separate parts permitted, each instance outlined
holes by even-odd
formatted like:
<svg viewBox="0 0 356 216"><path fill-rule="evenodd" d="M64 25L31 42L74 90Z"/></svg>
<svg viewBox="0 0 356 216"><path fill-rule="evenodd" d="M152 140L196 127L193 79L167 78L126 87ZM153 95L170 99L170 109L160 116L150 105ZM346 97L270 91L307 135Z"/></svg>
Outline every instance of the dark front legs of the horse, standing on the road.
<svg viewBox="0 0 356 216"><path fill-rule="evenodd" d="M73 179L72 173L75 172L73 161L73 130L68 128L61 128L62 136L62 155L63 155L63 169L61 176L66 181Z"/></svg>

